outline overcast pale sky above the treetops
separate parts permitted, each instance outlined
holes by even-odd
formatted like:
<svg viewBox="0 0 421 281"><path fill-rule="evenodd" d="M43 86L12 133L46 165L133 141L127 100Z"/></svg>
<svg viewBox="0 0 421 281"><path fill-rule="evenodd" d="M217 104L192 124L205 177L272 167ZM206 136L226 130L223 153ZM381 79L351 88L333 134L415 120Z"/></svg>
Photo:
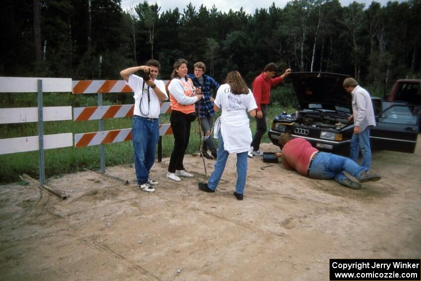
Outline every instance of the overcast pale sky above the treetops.
<svg viewBox="0 0 421 281"><path fill-rule="evenodd" d="M347 6L353 0L339 0L342 6ZM123 10L129 9L131 7L136 6L137 4L143 2L143 0L121 0L121 7ZM278 7L283 8L285 4L288 2L287 0L148 0L149 3L155 4L158 3L158 6L161 7L161 11L166 10L173 10L174 8L178 7L180 12L183 12L183 9L187 6L188 3L192 3L196 10L200 7L201 4L204 4L208 9L212 7L214 4L218 11L228 12L229 9L234 11L239 10L240 7L246 11L246 13L254 14L256 8L268 8L272 2ZM372 2L372 0L357 0L359 3L365 3L366 7ZM381 5L386 5L387 0L376 0ZM402 0L399 0L402 2Z"/></svg>

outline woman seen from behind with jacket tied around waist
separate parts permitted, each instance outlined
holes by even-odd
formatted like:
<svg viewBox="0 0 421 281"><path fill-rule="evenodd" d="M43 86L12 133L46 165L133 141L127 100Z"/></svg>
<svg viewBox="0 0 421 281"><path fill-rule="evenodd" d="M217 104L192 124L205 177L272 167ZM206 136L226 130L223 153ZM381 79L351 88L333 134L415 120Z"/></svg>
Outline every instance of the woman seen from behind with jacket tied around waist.
<svg viewBox="0 0 421 281"><path fill-rule="evenodd" d="M216 93L214 110L222 109L221 117L215 122L214 137L219 138L215 169L208 183L199 183L199 189L215 192L221 179L230 153L237 154L237 183L234 196L243 200L247 178L247 152L252 141L252 132L247 112L256 116L256 101L252 91L238 71L231 71L226 77L226 84L221 85Z"/></svg>

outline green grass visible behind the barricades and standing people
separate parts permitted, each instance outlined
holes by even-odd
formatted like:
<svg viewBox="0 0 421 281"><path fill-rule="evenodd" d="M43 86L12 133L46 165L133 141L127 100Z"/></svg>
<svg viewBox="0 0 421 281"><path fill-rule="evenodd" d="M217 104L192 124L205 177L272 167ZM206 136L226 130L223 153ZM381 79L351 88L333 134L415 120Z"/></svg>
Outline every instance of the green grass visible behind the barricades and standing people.
<svg viewBox="0 0 421 281"><path fill-rule="evenodd" d="M16 95L16 96L15 96ZM105 101L104 105L111 104ZM70 94L46 94L44 106L73 106L85 107L96 106L97 99L94 96ZM36 94L10 94L0 96L0 108L14 107L36 107ZM280 112L295 112L292 107L281 106L279 102L274 102L267 109L266 122L268 129L272 119ZM220 116L216 113L214 120ZM161 115L161 123L169 123L169 114ZM256 131L256 121L250 119L250 126L253 134ZM73 134L98 131L99 123L95 121L74 122L53 121L44 123L44 134L68 133ZM131 128L131 118L114 118L104 120L104 130ZM16 138L24 136L38 135L37 123L3 124L0 125L0 138ZM218 140L213 139L215 146ZM269 142L267 134L263 135L262 142ZM192 124L190 132L189 147L187 153L199 152L199 125L196 120ZM162 137L162 156L169 157L174 146L172 135ZM131 141L106 144L105 146L105 166L133 165L133 145ZM34 178L39 178L38 151L0 155L0 182L19 181L19 175L27 173ZM100 148L90 147L66 147L50 149L45 151L45 173L46 177L53 175L71 173L86 169L100 169Z"/></svg>

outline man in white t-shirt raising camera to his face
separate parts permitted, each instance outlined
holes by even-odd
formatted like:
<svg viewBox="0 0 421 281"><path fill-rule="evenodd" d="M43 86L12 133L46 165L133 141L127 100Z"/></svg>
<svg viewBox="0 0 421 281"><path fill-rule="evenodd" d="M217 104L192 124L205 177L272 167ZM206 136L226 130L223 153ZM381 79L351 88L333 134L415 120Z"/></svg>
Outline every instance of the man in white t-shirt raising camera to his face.
<svg viewBox="0 0 421 281"><path fill-rule="evenodd" d="M146 65L130 67L120 72L126 84L134 91L132 135L137 188L147 192L154 192L152 185L158 184L149 177L149 172L155 162L159 140L159 102L168 99L164 82L156 79L159 67L158 60L151 59ZM137 71L141 71L140 76L133 74Z"/></svg>

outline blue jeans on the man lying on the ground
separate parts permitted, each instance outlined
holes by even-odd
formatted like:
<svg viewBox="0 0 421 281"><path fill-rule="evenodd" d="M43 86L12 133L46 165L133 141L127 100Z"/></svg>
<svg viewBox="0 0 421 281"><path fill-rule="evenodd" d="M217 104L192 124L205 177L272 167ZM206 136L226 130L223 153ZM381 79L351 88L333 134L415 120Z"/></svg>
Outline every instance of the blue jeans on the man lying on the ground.
<svg viewBox="0 0 421 281"><path fill-rule="evenodd" d="M358 166L357 163L347 157L319 152L310 167L309 177L316 179L334 178L339 182L347 177L343 171L358 179L360 173L364 170L363 167Z"/></svg>

